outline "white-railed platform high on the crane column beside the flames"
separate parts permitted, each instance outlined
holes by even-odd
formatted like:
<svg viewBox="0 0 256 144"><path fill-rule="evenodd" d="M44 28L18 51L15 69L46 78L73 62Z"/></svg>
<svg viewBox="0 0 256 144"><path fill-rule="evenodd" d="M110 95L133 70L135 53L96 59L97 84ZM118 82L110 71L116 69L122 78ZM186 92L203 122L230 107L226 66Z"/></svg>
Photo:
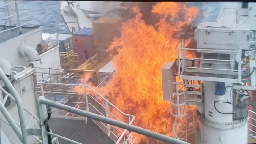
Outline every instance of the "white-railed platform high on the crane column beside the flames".
<svg viewBox="0 0 256 144"><path fill-rule="evenodd" d="M201 51L204 53L206 49L199 48L185 48L184 41L182 41L181 45L178 46L178 75L181 79L189 79L189 80L206 80L206 81L230 81L233 83L239 83L241 81L241 69L215 69L215 68L206 68L206 67L197 67L200 61L214 61L218 63L231 63L236 62L235 60L226 60L226 59L208 59L208 58L187 58L185 54L188 51L197 52ZM214 50L207 49L207 52L220 53L225 52L231 55L241 53L239 50ZM240 55L239 55L240 56ZM195 66L187 66L189 61L195 61ZM238 62L238 67L241 67L241 61ZM218 76L219 75L219 76ZM230 76L229 78L222 78L221 75ZM235 77L235 78L234 78Z"/></svg>

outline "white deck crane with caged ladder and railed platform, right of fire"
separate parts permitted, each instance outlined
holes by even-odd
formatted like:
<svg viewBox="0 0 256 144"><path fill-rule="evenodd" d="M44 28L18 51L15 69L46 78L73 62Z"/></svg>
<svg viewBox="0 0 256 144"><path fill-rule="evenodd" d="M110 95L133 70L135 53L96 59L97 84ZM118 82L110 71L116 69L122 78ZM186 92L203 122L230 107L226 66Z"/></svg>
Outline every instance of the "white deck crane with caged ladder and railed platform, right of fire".
<svg viewBox="0 0 256 144"><path fill-rule="evenodd" d="M174 137L191 142L190 132L196 144L248 143L249 90L256 89L255 14L256 3L228 3L216 22L197 26L196 49L185 48L182 40L178 59L162 67L164 100L176 117ZM185 50L201 57L186 58ZM187 105L197 106L196 132L189 130L196 123L187 124ZM180 122L187 125L178 127Z"/></svg>

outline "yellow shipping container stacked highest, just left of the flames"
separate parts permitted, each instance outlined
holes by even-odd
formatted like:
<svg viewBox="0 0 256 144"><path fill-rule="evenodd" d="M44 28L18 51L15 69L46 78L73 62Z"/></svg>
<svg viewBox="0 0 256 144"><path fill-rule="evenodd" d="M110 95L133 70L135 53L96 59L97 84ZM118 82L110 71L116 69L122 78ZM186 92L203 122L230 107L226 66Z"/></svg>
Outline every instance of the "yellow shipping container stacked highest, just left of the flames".
<svg viewBox="0 0 256 144"><path fill-rule="evenodd" d="M92 23L94 45L109 47L114 37L120 37L121 18L102 17Z"/></svg>

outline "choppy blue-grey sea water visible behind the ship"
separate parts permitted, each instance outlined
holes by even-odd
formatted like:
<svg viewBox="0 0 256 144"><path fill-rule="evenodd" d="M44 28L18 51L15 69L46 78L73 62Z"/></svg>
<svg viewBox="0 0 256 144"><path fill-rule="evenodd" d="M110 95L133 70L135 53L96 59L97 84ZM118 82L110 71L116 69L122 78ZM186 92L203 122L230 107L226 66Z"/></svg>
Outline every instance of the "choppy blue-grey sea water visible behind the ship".
<svg viewBox="0 0 256 144"><path fill-rule="evenodd" d="M3 1L0 1L3 5ZM200 8L203 14L203 18L197 21L214 21L216 20L220 5L223 3L190 3L190 6L196 6ZM62 33L69 34L69 30L66 28L65 23L58 13L59 11L59 1L21 1L18 3L20 9L32 9L29 12L20 15L20 19L23 20L34 20L31 25L42 25L44 33ZM1 18L4 17L4 10L1 9ZM3 23L3 20L0 22Z"/></svg>

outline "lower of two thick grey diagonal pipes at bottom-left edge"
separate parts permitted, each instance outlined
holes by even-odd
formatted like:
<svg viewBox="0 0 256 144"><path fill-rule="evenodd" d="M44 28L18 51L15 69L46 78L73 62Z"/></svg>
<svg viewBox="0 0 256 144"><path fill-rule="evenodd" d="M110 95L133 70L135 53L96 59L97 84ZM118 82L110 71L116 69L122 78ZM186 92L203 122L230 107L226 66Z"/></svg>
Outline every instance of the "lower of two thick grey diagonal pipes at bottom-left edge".
<svg viewBox="0 0 256 144"><path fill-rule="evenodd" d="M0 101L0 110L3 113L4 117L6 118L6 120L8 121L8 123L10 124L10 126L12 127L12 129L14 130L15 134L17 134L18 138L22 142L23 140L22 140L22 133L20 131L20 128L15 123L12 116L8 113L7 109L4 107L4 104L1 101Z"/></svg>

